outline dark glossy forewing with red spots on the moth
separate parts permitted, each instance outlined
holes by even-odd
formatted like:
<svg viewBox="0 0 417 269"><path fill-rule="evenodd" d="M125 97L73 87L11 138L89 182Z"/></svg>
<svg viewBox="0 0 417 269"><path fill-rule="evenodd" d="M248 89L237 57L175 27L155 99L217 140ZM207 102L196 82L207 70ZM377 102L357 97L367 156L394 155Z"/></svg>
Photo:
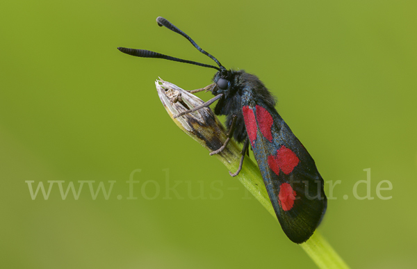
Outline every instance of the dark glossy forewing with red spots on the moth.
<svg viewBox="0 0 417 269"><path fill-rule="evenodd" d="M243 100L248 100L242 108L247 135L279 223L291 241L303 243L326 211L324 181L275 108Z"/></svg>

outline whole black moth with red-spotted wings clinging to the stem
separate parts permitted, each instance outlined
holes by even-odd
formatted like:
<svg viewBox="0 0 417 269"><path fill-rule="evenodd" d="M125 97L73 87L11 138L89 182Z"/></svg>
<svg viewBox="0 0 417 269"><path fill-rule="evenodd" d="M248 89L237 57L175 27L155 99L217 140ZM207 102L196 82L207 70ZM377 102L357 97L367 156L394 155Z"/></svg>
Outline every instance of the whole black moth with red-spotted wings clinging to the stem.
<svg viewBox="0 0 417 269"><path fill-rule="evenodd" d="M210 90L215 97L202 106L174 117L181 117L218 101L214 113L227 116L225 124L229 138L233 136L237 142L243 142L238 171L230 173L231 176L240 172L243 159L251 147L282 229L294 243L305 242L316 230L326 211L324 181L309 152L275 109L275 97L257 76L243 70L227 70L215 57L166 19L158 17L156 22L182 35L202 54L214 60L218 67L143 49L117 49L131 56L162 58L218 70L213 77L213 84L191 91ZM211 155L222 152L227 142L229 140L220 149L211 152Z"/></svg>

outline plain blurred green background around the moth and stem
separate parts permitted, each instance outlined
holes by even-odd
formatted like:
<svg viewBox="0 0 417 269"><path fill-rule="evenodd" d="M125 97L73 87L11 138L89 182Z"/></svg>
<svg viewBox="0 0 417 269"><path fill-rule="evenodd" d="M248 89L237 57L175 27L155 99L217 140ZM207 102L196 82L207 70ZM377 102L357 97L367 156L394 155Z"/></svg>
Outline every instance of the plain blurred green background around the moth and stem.
<svg viewBox="0 0 417 269"><path fill-rule="evenodd" d="M158 16L225 67L258 75L278 97L322 177L341 182L319 229L352 268L416 268L416 1L0 6L2 268L315 267L161 106L158 76L195 89L211 83L214 70L117 51L213 64L159 28ZM366 168L375 199L355 199ZM138 199L126 199L136 169ZM376 195L382 180L392 183L381 192L391 199ZM95 190L115 182L108 199L101 192L92 199L85 183L79 199L70 192L63 200L54 184L45 200L32 199L25 181L33 188L65 181L64 190L70 182L78 189L78 181L95 181Z"/></svg>

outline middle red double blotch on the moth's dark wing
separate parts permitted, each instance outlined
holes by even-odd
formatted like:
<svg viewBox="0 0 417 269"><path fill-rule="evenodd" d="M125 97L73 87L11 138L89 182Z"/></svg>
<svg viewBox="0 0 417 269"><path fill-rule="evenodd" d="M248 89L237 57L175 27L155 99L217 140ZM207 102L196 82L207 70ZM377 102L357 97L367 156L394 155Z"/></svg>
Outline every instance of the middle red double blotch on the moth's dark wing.
<svg viewBox="0 0 417 269"><path fill-rule="evenodd" d="M297 155L285 146L281 146L277 150L276 155L268 156L268 165L277 175L279 174L279 170L284 172L284 174L293 172L298 163L300 163L300 159Z"/></svg>

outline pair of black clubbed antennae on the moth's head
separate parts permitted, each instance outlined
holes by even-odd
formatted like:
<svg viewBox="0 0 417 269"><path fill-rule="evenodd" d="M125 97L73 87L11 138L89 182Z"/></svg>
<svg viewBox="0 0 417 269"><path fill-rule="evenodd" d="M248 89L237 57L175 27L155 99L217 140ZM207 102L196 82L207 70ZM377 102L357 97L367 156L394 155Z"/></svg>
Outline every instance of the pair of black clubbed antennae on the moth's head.
<svg viewBox="0 0 417 269"><path fill-rule="evenodd" d="M191 44L193 44L193 46L198 49L200 52L202 52L202 54L206 54L206 56L210 57L211 59L213 59L215 61L215 63L217 63L219 65L219 67L216 67L214 65L206 65L205 63L197 63L194 62L193 60L183 60L180 58L175 58L172 56L167 56L165 54L158 54L158 52L154 52L154 51L148 51L146 49L128 49L125 47L118 47L117 49L122 51L124 54L129 54L131 56L138 56L138 57L142 57L142 58L161 58L161 59L165 59L165 60L174 60L176 62L180 62L180 63L190 63L191 65L199 65L202 67L210 67L210 68L214 68L215 70L218 71L222 71L222 70L226 70L218 61L218 59L216 59L215 57L213 57L211 54L208 54L206 51L204 51L201 47L199 47L199 45L197 45L194 40L192 40L186 33L184 33L183 31L179 30L179 28L177 28L176 26L174 26L174 24L168 22L166 19L164 19L163 17L158 17L156 18L156 22L158 22L159 26L165 26L166 28L170 29L171 31L174 31L175 33L179 33L180 35L182 35L184 38L187 38L188 41L191 42Z"/></svg>

